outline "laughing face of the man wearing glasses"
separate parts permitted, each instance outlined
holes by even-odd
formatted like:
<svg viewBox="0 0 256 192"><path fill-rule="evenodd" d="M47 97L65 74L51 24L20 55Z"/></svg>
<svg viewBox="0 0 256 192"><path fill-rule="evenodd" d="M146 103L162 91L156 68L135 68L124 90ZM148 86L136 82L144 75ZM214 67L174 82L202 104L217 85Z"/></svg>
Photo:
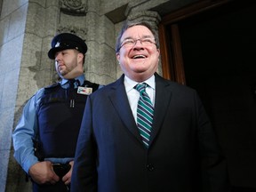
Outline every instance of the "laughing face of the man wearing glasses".
<svg viewBox="0 0 256 192"><path fill-rule="evenodd" d="M148 79L156 72L158 58L159 50L148 28L138 25L126 29L121 37L121 48L116 53L126 76L135 81Z"/></svg>

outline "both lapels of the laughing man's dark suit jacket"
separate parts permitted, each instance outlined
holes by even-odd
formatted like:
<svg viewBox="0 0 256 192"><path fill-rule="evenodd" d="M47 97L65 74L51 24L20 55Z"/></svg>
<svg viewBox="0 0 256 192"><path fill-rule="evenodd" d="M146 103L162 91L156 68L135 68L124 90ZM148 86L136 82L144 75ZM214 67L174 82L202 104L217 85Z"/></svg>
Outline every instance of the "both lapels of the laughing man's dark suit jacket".
<svg viewBox="0 0 256 192"><path fill-rule="evenodd" d="M170 82L164 80L161 76L156 76L156 101L155 112L153 120L153 129L150 136L150 144L156 138L160 130L161 124L164 121L166 110L169 108L169 103L172 97L172 88ZM116 83L111 87L111 92L108 93L108 100L116 109L116 114L120 117L126 128L142 143L140 133L132 116L132 109L130 107L125 88L124 75L121 76Z"/></svg>

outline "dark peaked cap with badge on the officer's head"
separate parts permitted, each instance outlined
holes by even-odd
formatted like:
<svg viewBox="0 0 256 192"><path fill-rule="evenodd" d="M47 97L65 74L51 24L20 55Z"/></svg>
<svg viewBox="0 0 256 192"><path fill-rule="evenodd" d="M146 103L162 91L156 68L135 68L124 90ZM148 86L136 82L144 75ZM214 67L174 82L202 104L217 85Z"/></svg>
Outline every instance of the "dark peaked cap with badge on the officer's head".
<svg viewBox="0 0 256 192"><path fill-rule="evenodd" d="M74 34L61 33L52 39L52 49L48 52L48 57L54 60L56 52L66 49L76 49L78 52L85 54L87 45L83 39Z"/></svg>

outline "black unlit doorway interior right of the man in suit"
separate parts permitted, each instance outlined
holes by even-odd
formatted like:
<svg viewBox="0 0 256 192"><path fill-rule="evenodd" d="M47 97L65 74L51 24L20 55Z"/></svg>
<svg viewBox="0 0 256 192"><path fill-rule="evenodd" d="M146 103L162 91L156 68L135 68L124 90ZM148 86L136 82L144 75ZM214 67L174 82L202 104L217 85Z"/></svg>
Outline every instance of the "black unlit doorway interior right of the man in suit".
<svg viewBox="0 0 256 192"><path fill-rule="evenodd" d="M256 1L179 22L187 85L195 88L228 161L234 191L256 191Z"/></svg>

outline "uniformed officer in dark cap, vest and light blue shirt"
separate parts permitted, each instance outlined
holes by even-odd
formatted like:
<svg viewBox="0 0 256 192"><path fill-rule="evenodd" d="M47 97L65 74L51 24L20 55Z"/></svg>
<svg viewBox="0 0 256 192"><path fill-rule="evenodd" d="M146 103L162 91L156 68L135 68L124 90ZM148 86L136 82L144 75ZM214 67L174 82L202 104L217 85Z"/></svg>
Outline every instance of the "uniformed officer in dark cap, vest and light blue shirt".
<svg viewBox="0 0 256 192"><path fill-rule="evenodd" d="M76 139L87 95L99 84L85 80L87 45L62 33L52 39L48 57L61 81L36 92L23 108L13 134L14 157L33 182L33 191L69 191Z"/></svg>

